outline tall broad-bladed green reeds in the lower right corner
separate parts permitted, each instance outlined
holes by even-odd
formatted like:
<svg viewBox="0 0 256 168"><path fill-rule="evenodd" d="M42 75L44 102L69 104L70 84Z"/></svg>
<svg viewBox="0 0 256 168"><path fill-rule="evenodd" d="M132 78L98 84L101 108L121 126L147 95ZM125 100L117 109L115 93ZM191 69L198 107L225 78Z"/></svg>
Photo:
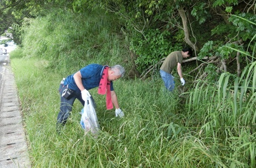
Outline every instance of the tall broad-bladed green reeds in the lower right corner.
<svg viewBox="0 0 256 168"><path fill-rule="evenodd" d="M221 157L231 167L253 167L256 156L256 62L244 68L241 77L223 72L218 85L198 81L188 93L191 118L200 135L221 143Z"/></svg>

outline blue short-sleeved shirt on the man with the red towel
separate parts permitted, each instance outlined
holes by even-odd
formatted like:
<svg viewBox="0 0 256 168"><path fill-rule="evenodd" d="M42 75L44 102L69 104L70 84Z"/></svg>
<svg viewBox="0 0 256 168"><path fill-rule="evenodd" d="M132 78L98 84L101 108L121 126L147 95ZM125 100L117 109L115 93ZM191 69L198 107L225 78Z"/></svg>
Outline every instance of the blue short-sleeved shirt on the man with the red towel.
<svg viewBox="0 0 256 168"><path fill-rule="evenodd" d="M80 69L82 75L82 83L86 90L99 87L104 67L105 66L99 64L90 64ZM66 78L64 85L68 85L68 88L72 90L81 91L75 83L74 74ZM114 90L112 81L110 81L110 90Z"/></svg>

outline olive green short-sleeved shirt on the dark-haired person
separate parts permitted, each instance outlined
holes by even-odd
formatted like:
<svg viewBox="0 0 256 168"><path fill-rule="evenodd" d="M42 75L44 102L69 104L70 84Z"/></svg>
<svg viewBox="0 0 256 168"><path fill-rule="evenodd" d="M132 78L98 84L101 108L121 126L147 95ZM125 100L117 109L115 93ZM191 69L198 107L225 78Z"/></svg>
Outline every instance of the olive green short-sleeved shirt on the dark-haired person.
<svg viewBox="0 0 256 168"><path fill-rule="evenodd" d="M165 58L160 69L171 74L172 69L177 66L178 62L181 64L182 60L181 51L174 51Z"/></svg>

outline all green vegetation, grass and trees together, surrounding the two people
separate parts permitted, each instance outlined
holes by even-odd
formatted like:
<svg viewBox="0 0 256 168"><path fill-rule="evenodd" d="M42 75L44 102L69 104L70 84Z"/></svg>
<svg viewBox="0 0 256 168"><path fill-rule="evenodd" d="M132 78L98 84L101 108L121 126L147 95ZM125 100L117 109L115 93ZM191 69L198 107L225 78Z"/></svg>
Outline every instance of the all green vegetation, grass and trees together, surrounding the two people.
<svg viewBox="0 0 256 168"><path fill-rule="evenodd" d="M13 20L8 32L19 45L11 62L33 167L255 166L254 1L0 5ZM0 19L3 33L7 21ZM185 46L194 49L194 58L183 63L186 84L176 82L170 94L158 68ZM125 117L115 118L92 90L99 137L84 135L78 102L57 135L58 84L92 62L125 67L125 78L115 81Z"/></svg>

